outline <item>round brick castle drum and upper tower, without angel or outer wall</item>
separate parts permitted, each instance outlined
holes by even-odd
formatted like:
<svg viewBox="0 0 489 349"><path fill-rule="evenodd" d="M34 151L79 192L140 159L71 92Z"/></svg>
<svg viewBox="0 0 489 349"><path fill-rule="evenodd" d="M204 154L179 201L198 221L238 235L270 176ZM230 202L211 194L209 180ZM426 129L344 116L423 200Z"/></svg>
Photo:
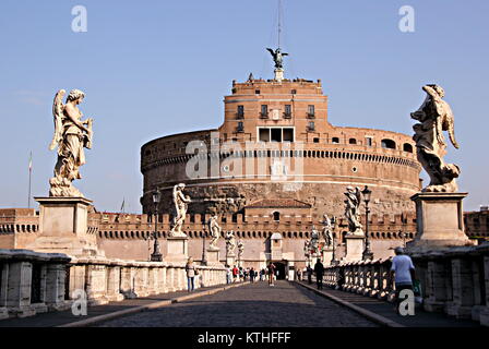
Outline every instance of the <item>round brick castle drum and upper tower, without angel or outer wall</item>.
<svg viewBox="0 0 489 349"><path fill-rule="evenodd" d="M421 167L412 136L331 124L320 80L265 81L250 74L246 82L232 82L224 105L219 128L142 146L143 213L154 212L155 190L163 196L158 212L171 213L177 183L184 183L193 200L190 214L246 216L247 207L266 198L276 203L261 212L270 219L286 203L294 208L295 201L310 205L312 217L342 216L347 185L373 191L373 214L414 212L409 197L420 190ZM207 152L199 153L200 168L194 166L198 151L190 148L199 142ZM199 168L200 176L189 176L189 167Z"/></svg>

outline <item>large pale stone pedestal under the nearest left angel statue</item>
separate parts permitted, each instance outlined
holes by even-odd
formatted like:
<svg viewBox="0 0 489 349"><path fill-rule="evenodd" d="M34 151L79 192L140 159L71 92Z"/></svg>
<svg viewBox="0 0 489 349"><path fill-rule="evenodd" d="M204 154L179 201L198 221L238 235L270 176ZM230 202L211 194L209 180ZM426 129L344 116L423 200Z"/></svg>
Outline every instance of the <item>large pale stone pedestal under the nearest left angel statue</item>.
<svg viewBox="0 0 489 349"><path fill-rule="evenodd" d="M97 237L88 232L88 208L84 197L35 197L39 203L39 237L26 249L71 256L100 255Z"/></svg>

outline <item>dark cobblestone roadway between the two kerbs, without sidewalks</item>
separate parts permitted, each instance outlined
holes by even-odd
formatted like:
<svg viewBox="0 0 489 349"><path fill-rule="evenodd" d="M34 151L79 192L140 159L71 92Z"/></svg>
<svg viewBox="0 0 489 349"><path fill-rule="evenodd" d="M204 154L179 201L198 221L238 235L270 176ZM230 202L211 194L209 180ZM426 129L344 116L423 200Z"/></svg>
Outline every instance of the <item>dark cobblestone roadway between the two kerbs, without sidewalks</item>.
<svg viewBox="0 0 489 349"><path fill-rule="evenodd" d="M99 324L106 327L377 326L329 299L287 281L259 281Z"/></svg>

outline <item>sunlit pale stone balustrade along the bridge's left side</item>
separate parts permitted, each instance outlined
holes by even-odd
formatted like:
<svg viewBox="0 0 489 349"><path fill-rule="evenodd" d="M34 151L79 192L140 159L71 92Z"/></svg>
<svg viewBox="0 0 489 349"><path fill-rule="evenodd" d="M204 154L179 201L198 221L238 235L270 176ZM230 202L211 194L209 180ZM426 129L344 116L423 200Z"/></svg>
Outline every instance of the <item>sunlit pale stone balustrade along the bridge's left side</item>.
<svg viewBox="0 0 489 349"><path fill-rule="evenodd" d="M184 263L72 258L28 250L0 250L0 318L187 289ZM224 266L198 266L195 288L226 284Z"/></svg>

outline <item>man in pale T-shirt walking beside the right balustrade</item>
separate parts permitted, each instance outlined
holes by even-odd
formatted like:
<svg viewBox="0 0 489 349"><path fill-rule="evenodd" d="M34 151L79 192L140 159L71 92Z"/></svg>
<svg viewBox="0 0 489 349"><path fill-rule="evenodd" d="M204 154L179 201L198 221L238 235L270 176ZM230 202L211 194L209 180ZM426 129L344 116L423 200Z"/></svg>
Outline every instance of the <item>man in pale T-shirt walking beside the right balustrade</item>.
<svg viewBox="0 0 489 349"><path fill-rule="evenodd" d="M395 256L392 258L391 279L395 282L395 310L398 312L399 292L413 290L413 280L416 278L415 266L408 255L404 254L403 248L395 248Z"/></svg>

